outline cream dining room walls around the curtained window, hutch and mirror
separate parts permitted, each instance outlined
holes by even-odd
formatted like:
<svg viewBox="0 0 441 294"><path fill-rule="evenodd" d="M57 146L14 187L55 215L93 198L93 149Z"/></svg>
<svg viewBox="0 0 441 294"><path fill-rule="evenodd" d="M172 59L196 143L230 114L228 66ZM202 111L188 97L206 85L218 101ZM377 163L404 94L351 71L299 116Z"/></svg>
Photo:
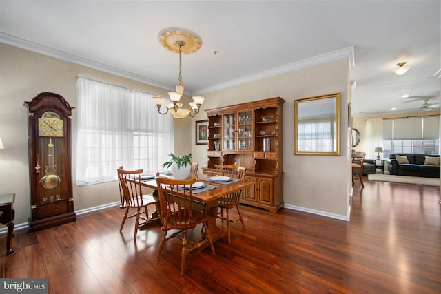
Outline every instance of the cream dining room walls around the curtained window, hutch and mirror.
<svg viewBox="0 0 441 294"><path fill-rule="evenodd" d="M347 218L347 100L348 61L339 59L302 70L280 74L260 81L205 94L203 109L280 96L287 102L283 112L283 169L285 206L336 218ZM167 95L168 90L146 85L82 65L0 43L0 193L16 193L16 225L24 225L30 216L28 129L24 101L41 92L54 92L76 107L76 76L90 76L110 83L146 92ZM342 155L294 155L294 100L340 92ZM72 170L75 179L76 110L72 115ZM200 166L206 165L207 145L195 145L194 122L206 119L201 111L190 120L175 120L175 152L190 150ZM76 211L119 200L116 182L78 187L74 185Z"/></svg>

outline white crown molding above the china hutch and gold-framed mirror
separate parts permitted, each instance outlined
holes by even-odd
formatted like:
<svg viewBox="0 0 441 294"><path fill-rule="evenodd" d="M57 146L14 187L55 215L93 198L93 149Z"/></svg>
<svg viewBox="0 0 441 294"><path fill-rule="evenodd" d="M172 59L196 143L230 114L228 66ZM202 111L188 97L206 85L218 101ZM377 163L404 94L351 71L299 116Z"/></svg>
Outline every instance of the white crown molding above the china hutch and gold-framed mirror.
<svg viewBox="0 0 441 294"><path fill-rule="evenodd" d="M234 87L236 85L241 85L244 83L257 81L262 78L269 78L271 76L276 76L277 74L285 74L286 72L292 72L294 70L300 70L305 67L309 67L312 65L318 65L320 63L325 63L327 61L333 61L333 60L342 59L342 58L349 59L349 67L353 67L355 65L355 59L353 56L353 46L348 47L348 48L343 48L340 50L336 50L333 52L329 52L326 54L314 56L314 57L311 57L310 59L305 59L303 61L298 61L298 62L290 63L287 65L282 65L280 67L275 67L271 70L265 70L263 72L258 72L256 74L250 74L249 76L244 76L243 78L236 78L235 80L228 81L226 83L219 83L217 85L212 85L209 87L194 90L192 92L192 95L200 95L200 94L205 94L205 93L209 93L209 92L214 92L214 91L225 89L227 87Z"/></svg>

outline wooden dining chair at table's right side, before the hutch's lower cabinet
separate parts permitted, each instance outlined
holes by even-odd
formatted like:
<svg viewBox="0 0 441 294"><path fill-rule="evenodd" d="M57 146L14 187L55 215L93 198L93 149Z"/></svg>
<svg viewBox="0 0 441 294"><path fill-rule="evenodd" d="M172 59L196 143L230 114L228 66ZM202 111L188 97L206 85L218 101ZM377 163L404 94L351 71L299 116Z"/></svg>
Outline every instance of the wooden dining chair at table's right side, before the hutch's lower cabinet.
<svg viewBox="0 0 441 294"><path fill-rule="evenodd" d="M214 167L216 167L216 174L218 176L229 176L230 178L238 178L241 180L245 178L245 167L240 167L238 165L214 165ZM239 190L218 199L218 207L220 208L220 211L217 217L220 218L222 222L227 222L227 238L229 244L231 244L232 242L231 227L234 226L236 222L240 220L240 222L242 223L242 227L245 230L245 224L243 223L242 214L240 213L239 209L240 198L242 197L242 195L243 190ZM229 217L229 209L233 209L234 207L236 207L237 209L238 218L232 220ZM226 216L224 216L224 209Z"/></svg>

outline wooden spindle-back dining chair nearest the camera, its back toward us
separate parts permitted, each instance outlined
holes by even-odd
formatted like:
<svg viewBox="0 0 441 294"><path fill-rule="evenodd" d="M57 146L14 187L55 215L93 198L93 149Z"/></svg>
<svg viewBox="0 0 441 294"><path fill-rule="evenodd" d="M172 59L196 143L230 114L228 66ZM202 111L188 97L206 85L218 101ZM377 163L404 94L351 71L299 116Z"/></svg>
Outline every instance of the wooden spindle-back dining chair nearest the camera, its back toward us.
<svg viewBox="0 0 441 294"><path fill-rule="evenodd" d="M209 247L214 254L213 241L207 226L208 215L203 211L193 209L195 198L192 195L192 184L196 182L196 178L174 180L171 178L163 178L158 174L156 176L160 206L159 215L162 222L161 229L163 230L161 242L159 243L158 251L156 252L156 260L158 260L159 255L161 255L165 241L174 237L182 240L181 275L184 275L187 253L209 243ZM202 224L203 229L205 230L205 238L201 238L196 242L187 239L187 231L189 229L194 229L198 224ZM167 236L167 233L170 230L177 231L174 231L171 235ZM187 248L188 244L191 244L192 247Z"/></svg>

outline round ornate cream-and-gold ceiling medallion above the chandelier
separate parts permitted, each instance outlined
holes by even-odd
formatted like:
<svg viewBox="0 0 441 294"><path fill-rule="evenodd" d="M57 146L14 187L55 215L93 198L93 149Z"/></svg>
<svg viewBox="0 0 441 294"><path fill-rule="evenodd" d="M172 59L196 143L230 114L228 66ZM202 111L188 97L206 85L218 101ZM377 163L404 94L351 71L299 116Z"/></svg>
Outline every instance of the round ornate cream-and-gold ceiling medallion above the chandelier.
<svg viewBox="0 0 441 294"><path fill-rule="evenodd" d="M158 41L164 48L179 53L179 45L183 43L181 52L191 54L202 46L201 37L185 28L165 28L158 34Z"/></svg>

